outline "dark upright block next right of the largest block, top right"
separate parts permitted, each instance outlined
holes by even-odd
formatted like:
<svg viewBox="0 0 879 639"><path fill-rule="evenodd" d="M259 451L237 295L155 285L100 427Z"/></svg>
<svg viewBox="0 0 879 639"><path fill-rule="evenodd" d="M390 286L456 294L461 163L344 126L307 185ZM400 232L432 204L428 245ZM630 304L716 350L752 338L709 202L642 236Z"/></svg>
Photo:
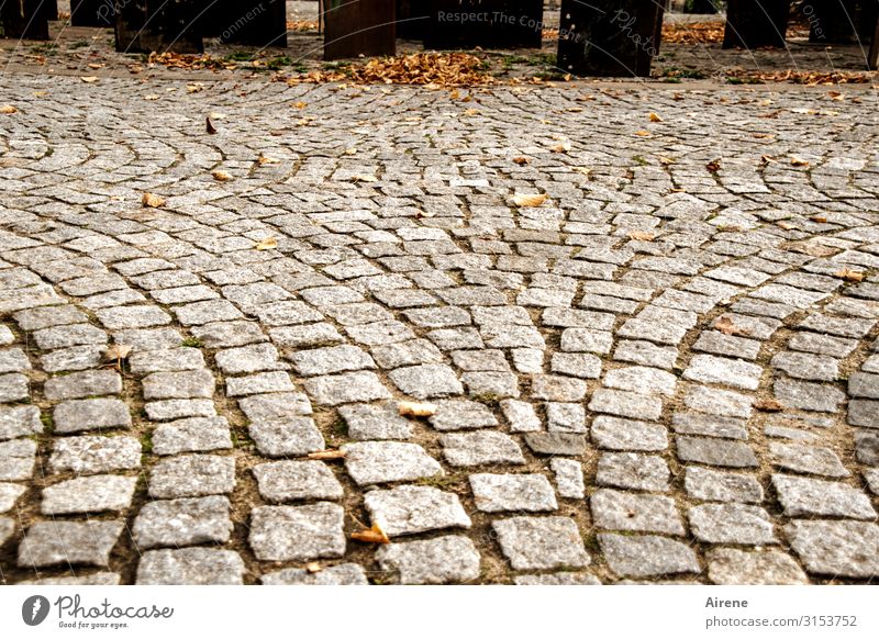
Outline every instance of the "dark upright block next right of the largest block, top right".
<svg viewBox="0 0 879 639"><path fill-rule="evenodd" d="M723 48L785 46L789 0L730 0Z"/></svg>

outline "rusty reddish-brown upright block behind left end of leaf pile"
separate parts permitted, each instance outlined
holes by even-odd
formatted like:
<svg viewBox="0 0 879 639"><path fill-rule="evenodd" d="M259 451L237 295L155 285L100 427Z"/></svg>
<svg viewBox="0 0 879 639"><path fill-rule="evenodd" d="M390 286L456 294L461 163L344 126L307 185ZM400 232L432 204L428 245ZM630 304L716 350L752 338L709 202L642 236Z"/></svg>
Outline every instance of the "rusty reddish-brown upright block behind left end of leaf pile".
<svg viewBox="0 0 879 639"><path fill-rule="evenodd" d="M397 53L396 0L327 0L323 59Z"/></svg>

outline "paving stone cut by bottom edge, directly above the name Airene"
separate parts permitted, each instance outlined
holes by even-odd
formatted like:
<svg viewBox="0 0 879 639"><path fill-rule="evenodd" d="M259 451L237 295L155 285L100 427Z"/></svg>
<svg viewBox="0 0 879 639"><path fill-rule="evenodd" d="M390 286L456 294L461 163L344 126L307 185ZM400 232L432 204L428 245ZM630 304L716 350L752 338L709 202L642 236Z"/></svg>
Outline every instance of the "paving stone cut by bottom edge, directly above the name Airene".
<svg viewBox="0 0 879 639"><path fill-rule="evenodd" d="M793 559L780 550L746 551L713 548L708 551L708 578L721 585L794 585L809 580Z"/></svg>

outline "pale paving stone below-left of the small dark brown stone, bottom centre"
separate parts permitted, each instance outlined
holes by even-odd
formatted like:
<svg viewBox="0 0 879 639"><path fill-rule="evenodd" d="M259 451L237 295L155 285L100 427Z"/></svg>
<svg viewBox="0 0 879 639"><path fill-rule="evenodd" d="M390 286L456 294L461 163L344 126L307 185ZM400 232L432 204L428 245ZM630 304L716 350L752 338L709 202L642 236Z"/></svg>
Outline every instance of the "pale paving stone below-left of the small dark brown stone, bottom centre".
<svg viewBox="0 0 879 639"><path fill-rule="evenodd" d="M476 507L483 513L544 513L558 508L553 485L542 474L471 474L470 487Z"/></svg>

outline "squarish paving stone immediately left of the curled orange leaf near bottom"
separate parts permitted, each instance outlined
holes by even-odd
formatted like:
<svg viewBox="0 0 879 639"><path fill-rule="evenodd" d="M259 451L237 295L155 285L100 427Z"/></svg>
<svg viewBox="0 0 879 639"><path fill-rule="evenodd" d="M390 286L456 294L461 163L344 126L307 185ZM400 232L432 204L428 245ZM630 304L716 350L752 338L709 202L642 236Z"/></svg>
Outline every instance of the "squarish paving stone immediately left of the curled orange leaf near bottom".
<svg viewBox="0 0 879 639"><path fill-rule="evenodd" d="M258 506L251 512L249 543L260 561L311 561L345 553L345 511L327 503Z"/></svg>

